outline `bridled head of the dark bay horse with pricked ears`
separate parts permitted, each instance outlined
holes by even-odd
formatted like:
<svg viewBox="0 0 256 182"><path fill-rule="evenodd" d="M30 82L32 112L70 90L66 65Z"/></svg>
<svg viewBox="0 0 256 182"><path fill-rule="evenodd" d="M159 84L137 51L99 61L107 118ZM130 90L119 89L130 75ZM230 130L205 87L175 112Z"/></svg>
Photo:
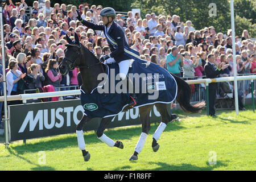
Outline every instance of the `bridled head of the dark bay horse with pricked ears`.
<svg viewBox="0 0 256 182"><path fill-rule="evenodd" d="M69 71L78 67L80 64L81 45L79 36L75 33L75 42L73 42L68 35L66 35L68 44L64 50L65 56L59 65L61 75L67 75Z"/></svg>

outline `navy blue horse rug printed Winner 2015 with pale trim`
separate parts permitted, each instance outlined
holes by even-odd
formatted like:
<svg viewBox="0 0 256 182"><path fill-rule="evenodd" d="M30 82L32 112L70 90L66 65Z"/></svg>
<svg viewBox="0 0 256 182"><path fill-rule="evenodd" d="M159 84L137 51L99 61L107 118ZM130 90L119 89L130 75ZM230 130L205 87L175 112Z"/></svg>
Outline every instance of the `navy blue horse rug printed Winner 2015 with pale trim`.
<svg viewBox="0 0 256 182"><path fill-rule="evenodd" d="M81 104L89 118L105 118L117 115L130 103L130 93L135 91L137 105L170 104L177 95L177 83L166 69L146 60L131 60L129 78L134 89L127 88L127 81L119 77L117 63L107 65L108 74L102 84L85 93L81 89Z"/></svg>

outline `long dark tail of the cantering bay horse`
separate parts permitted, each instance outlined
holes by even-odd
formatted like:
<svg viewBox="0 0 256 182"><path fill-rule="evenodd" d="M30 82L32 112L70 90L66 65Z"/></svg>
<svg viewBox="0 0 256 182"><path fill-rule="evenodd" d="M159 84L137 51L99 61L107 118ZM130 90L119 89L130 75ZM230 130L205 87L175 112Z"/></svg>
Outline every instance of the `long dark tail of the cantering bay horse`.
<svg viewBox="0 0 256 182"><path fill-rule="evenodd" d="M190 100L192 96L191 88L183 79L177 77L176 75L171 75L175 78L177 82L177 97L176 101L180 104L181 109L189 113L200 113L205 107L205 102L199 102L196 105L191 105Z"/></svg>

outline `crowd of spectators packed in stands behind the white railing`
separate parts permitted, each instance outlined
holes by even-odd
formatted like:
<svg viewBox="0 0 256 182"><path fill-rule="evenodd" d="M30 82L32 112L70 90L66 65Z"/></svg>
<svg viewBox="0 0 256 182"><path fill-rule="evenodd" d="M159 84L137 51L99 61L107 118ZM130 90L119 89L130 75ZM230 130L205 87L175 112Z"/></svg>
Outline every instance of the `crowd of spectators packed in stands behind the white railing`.
<svg viewBox="0 0 256 182"><path fill-rule="evenodd" d="M84 3L76 7L55 3L51 7L51 2L46 0L45 6L39 8L39 2L34 1L32 18L28 18L24 0L15 5L11 0L9 3L3 8L8 95L17 94L16 84L26 75L34 78L27 84L29 89L48 84L55 88L78 84L79 69L75 68L67 77L61 76L57 69L59 59L64 56L65 35L74 39L76 32L81 44L97 57L110 53L103 32L90 30L77 20L76 9L82 18L101 24L103 7L100 5ZM204 77L209 55L213 55L216 66L228 64L221 75L233 76L233 46L236 47L237 73L256 73L256 44L247 30L243 31L241 42L236 36L236 43L232 45L231 30L216 32L213 26L196 30L191 20L183 22L179 15L151 13L141 17L129 11L127 16L117 14L116 21L124 28L129 46L140 53L141 59L159 64L176 76Z"/></svg>

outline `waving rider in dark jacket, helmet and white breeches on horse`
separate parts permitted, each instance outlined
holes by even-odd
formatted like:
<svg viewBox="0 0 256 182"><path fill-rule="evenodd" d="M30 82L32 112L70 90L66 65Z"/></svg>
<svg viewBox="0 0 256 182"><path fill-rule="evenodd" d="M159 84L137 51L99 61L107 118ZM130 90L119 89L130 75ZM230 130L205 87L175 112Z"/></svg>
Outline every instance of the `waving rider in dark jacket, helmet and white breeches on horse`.
<svg viewBox="0 0 256 182"><path fill-rule="evenodd" d="M127 84L133 85L130 78L127 76L127 73L129 71L131 59L133 59L134 56L138 59L139 53L129 48L125 31L117 22L114 21L115 10L112 7L105 7L102 9L100 16L104 25L94 24L82 19L79 11L77 11L77 15L77 19L80 20L84 26L93 30L104 31L111 53L101 56L100 61L104 64L118 63L120 78L122 80L127 78ZM130 95L130 98L131 102L129 103L129 106L135 106L137 104L137 98L134 91Z"/></svg>

